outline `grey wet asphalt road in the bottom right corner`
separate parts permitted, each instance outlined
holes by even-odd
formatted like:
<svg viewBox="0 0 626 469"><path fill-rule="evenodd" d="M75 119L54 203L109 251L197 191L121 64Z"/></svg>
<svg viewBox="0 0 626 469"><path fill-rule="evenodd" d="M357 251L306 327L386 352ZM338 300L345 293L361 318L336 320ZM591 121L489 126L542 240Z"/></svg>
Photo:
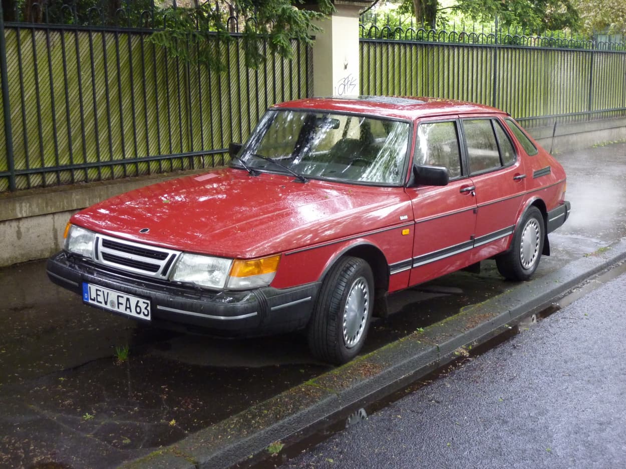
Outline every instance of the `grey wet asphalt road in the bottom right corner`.
<svg viewBox="0 0 626 469"><path fill-rule="evenodd" d="M622 274L281 467L623 468L625 301Z"/></svg>

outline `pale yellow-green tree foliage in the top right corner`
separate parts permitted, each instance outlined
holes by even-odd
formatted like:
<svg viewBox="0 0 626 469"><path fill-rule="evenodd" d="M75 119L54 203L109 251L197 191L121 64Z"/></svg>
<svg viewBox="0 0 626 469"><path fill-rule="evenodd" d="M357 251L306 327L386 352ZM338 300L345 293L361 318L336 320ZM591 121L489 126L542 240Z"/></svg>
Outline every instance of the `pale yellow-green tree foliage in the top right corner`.
<svg viewBox="0 0 626 469"><path fill-rule="evenodd" d="M626 2L616 0L573 0L580 12L584 33L593 31L626 34Z"/></svg>

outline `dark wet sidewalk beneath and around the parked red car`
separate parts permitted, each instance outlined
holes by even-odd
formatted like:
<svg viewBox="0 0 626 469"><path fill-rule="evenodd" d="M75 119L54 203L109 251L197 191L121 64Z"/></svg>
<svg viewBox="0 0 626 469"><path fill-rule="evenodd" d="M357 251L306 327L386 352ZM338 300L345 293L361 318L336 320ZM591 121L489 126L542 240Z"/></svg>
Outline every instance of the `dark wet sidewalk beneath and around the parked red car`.
<svg viewBox="0 0 626 469"><path fill-rule="evenodd" d="M626 236L626 144L557 158L573 213L537 278ZM363 353L515 285L487 261L393 295ZM0 270L0 297L0 467L115 467L332 369L298 334L215 340L92 310L51 284L43 261Z"/></svg>

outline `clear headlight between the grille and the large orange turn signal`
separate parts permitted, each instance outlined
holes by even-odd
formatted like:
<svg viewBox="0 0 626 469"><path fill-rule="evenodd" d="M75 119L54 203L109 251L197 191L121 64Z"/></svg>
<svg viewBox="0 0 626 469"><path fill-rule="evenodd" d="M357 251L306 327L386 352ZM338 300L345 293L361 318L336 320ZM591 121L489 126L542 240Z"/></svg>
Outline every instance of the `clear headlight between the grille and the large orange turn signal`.
<svg viewBox="0 0 626 469"><path fill-rule="evenodd" d="M193 282L209 288L224 288L232 260L183 253L170 277L173 281Z"/></svg>

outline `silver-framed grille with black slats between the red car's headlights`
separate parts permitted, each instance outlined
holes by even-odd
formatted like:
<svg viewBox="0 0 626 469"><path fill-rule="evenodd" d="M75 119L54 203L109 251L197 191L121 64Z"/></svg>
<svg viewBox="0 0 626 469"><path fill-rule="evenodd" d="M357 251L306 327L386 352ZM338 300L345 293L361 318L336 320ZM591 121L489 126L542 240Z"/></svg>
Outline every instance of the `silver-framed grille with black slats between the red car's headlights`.
<svg viewBox="0 0 626 469"><path fill-rule="evenodd" d="M180 251L133 243L132 241L98 235L97 263L135 274L165 278Z"/></svg>

